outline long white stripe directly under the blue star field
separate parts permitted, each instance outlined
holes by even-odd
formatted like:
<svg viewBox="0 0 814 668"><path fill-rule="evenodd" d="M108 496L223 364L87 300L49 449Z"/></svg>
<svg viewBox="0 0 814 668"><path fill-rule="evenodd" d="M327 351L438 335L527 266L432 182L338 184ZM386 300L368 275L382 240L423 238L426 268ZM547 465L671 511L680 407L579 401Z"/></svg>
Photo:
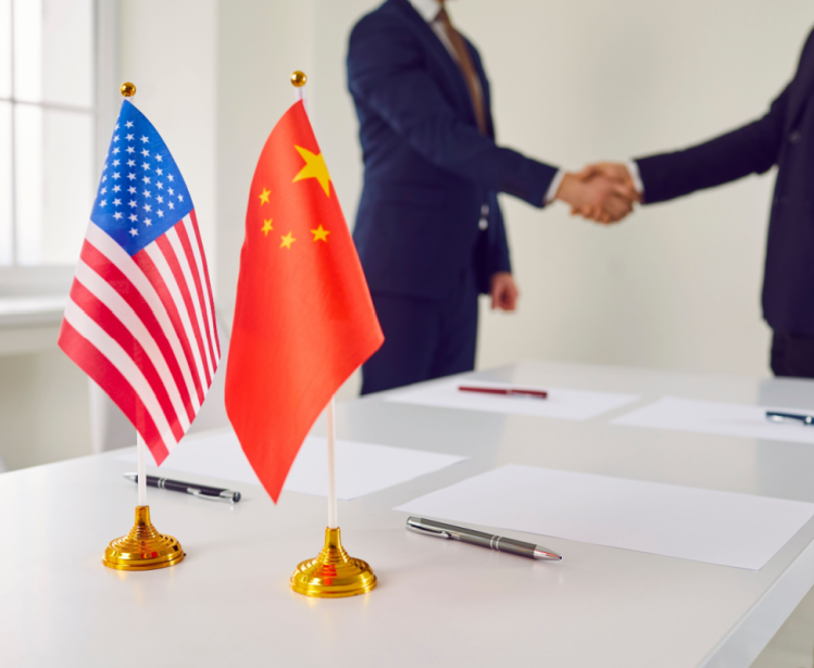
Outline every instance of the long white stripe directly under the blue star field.
<svg viewBox="0 0 814 668"><path fill-rule="evenodd" d="M195 387L192 370L187 362L187 356L184 354L184 348L180 344L180 339L178 339L178 333L175 331L175 327L173 327L173 320L170 318L170 314L166 312L164 303L161 301L161 297L159 297L150 279L145 276L141 267L134 262L133 257L95 223L88 226L86 238L93 248L116 265L118 270L136 287L136 290L138 290L139 294L141 294L150 306L153 315L159 320L159 326L170 341L170 348L173 349L175 360L180 367L180 374L184 376L184 382L187 385L187 392L189 393L189 400L192 402L192 409L195 414L198 414L198 411L201 409L201 402L198 401L198 391ZM190 348L193 346L190 345Z"/></svg>

